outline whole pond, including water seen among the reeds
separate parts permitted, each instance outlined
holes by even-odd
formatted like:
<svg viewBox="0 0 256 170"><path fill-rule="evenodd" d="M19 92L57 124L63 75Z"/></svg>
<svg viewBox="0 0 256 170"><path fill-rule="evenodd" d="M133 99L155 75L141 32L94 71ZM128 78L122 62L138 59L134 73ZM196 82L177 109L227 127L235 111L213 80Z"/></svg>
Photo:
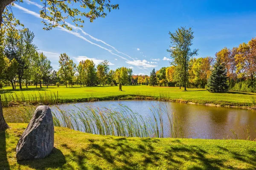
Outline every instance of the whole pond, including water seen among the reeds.
<svg viewBox="0 0 256 170"><path fill-rule="evenodd" d="M125 106L127 106L127 108ZM177 137L194 139L247 139L249 136L250 140L256 139L256 110L148 100L83 102L52 105L50 108L52 109L52 113L60 119L60 122L56 122L56 124L88 133L113 135L113 133L111 133L112 130L115 135L119 136ZM132 114L128 108L131 109ZM88 109L91 110L88 111ZM124 110L125 113L123 113ZM162 112L159 112L160 110ZM3 113L7 122L29 122L35 108L30 108L30 116L27 116L29 115L28 111L29 109L23 110L23 113L26 114L24 115L20 113L20 109L15 110L15 108L12 107L3 108ZM113 111L116 111L119 114L113 116ZM88 114L88 112L90 112L90 114ZM102 112L107 114L105 115L105 120L108 119L106 121L107 123L102 119L104 116L102 117L101 115L96 117ZM63 113L67 113L65 118L63 117ZM137 118L134 118L136 116L140 118L138 121ZM74 118L70 121L72 122L71 125L73 127L68 125L67 119L70 117ZM87 120L87 117L91 117L91 119ZM127 119L128 117L133 118ZM25 118L26 121L24 121ZM118 119L119 122L126 121L126 124L124 125L126 127L132 125L129 127L130 129L140 130L142 130L144 126L137 126L138 122L139 124L141 124L141 122L147 122L144 123L145 126L148 127L151 125L152 129L155 128L155 131L158 130L159 134L162 133L162 136L161 134L157 136L156 132L153 132L153 130L148 134L140 134L137 133L137 131L133 131L132 134L121 134L122 132L117 134L116 132L123 127L116 125L119 124L119 122L113 121L116 119ZM151 122L148 123L148 120ZM88 122L91 122L90 125ZM96 127L94 130L88 131L88 127L96 126L96 123L105 126L105 129L111 125L115 125L115 128L102 132L100 131L101 127ZM87 124L87 127L85 127L85 124ZM148 127L148 129L150 128Z"/></svg>

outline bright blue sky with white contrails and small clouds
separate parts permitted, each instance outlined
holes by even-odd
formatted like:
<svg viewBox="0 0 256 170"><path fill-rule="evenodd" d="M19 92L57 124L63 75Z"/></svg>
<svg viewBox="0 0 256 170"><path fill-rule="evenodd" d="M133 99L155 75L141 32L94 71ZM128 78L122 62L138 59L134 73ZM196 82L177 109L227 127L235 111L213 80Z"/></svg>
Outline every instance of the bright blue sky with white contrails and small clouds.
<svg viewBox="0 0 256 170"><path fill-rule="evenodd" d="M150 74L169 66L169 31L180 26L195 31L197 57L214 57L221 48L233 48L256 37L256 1L227 0L111 0L119 10L84 28L44 31L38 17L41 1L23 0L13 8L15 17L35 33L34 43L58 69L58 56L66 53L78 63L104 59L110 68L129 67L134 74ZM31 3L32 2L32 3ZM67 20L72 24L71 21Z"/></svg>

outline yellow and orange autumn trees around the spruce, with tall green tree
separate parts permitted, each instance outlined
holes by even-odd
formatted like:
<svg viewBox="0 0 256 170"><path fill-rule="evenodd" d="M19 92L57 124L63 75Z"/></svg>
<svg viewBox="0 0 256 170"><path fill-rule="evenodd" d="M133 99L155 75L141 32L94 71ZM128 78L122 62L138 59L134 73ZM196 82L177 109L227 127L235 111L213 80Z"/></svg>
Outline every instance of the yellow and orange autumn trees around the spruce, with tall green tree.
<svg viewBox="0 0 256 170"><path fill-rule="evenodd" d="M223 72L222 76L226 75L224 79L227 78L230 89L256 92L256 38L232 49L225 47L215 54L215 58L193 58L198 52L198 49L190 48L193 33L191 28L185 27L178 28L175 33L169 32L171 45L167 51L172 58L172 66L153 70L149 81L151 85L183 86L185 91L188 86L205 88L209 87L212 74L219 76L213 73L217 69Z"/></svg>

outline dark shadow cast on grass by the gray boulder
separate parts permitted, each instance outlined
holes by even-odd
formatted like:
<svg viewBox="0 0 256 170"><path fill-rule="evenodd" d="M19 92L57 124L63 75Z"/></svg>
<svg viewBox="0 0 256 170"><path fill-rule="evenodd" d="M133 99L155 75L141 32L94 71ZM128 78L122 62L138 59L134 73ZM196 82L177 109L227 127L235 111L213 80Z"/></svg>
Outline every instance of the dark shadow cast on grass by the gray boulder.
<svg viewBox="0 0 256 170"><path fill-rule="evenodd" d="M60 168L66 163L65 156L61 150L53 148L52 152L44 159L35 159L27 161L18 161L18 164L27 165L37 170L45 170L51 168Z"/></svg>

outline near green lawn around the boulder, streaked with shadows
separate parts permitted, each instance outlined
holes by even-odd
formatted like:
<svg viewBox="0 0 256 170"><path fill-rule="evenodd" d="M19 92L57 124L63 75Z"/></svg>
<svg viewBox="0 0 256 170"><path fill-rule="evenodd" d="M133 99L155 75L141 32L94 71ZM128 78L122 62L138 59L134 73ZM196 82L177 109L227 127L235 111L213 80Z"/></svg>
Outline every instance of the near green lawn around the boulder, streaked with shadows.
<svg viewBox="0 0 256 170"><path fill-rule="evenodd" d="M29 169L256 169L256 142L100 136L55 127L55 144L45 159L17 162L15 148L27 124L0 133L0 170Z"/></svg>

